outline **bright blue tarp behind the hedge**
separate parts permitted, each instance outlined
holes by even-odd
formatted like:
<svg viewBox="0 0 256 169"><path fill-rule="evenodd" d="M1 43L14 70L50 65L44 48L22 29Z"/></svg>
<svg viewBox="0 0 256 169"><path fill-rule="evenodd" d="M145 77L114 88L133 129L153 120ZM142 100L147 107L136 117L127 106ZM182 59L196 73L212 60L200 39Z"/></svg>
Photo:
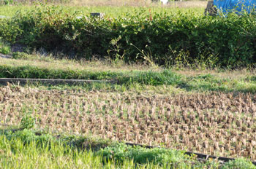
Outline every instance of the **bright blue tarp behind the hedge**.
<svg viewBox="0 0 256 169"><path fill-rule="evenodd" d="M235 10L236 12L252 12L256 7L256 0L214 0L214 6L224 14Z"/></svg>

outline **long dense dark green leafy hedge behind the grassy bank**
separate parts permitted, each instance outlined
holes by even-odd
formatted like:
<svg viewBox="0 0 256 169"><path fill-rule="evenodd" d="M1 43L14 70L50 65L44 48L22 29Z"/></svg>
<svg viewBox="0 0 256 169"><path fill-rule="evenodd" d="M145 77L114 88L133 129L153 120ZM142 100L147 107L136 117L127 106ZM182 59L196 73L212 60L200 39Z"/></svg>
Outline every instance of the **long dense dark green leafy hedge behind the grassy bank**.
<svg viewBox="0 0 256 169"><path fill-rule="evenodd" d="M146 57L159 65L206 63L233 68L256 63L255 15L148 14L146 9L102 20L78 19L78 15L41 5L25 14L18 12L10 20L0 20L0 37L87 59L108 56L129 63Z"/></svg>

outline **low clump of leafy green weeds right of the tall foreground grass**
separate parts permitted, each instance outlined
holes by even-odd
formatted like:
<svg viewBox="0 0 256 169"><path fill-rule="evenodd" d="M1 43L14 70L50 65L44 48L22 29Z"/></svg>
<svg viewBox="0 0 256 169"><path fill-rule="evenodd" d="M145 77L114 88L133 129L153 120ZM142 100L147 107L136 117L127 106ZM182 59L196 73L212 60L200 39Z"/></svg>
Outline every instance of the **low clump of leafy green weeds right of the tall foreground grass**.
<svg viewBox="0 0 256 169"><path fill-rule="evenodd" d="M98 153L103 155L105 161L124 162L124 160L129 159L138 164L153 162L158 165L170 164L181 167L186 166L186 160L192 160L192 157L186 156L181 151L163 148L146 149L140 146L127 146L126 144L108 146Z"/></svg>

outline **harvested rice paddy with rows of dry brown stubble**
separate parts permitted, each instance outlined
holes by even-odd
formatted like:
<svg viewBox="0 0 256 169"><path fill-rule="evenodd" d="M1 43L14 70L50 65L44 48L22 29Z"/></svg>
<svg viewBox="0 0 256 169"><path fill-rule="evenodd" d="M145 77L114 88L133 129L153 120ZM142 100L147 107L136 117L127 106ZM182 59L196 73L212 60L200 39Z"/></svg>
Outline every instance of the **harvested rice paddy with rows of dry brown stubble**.
<svg viewBox="0 0 256 169"><path fill-rule="evenodd" d="M1 123L18 125L24 111L39 129L97 135L225 157L256 148L255 95L37 90L1 87Z"/></svg>

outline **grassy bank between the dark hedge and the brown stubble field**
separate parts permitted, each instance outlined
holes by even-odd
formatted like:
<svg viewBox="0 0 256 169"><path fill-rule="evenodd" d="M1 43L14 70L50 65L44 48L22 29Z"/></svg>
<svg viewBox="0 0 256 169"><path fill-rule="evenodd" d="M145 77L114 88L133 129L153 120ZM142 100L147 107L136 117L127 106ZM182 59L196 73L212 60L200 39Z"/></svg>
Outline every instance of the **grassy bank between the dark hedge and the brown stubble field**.
<svg viewBox="0 0 256 169"><path fill-rule="evenodd" d="M1 78L35 79L95 79L113 80L109 83L80 84L76 86L61 84L57 86L33 84L34 87L64 90L67 88L85 90L152 90L158 93L205 93L209 91L225 93L256 93L253 71L195 71L175 68L152 68L150 66L99 61L56 60L50 57L27 59L0 59ZM29 58L29 59L28 59Z"/></svg>

